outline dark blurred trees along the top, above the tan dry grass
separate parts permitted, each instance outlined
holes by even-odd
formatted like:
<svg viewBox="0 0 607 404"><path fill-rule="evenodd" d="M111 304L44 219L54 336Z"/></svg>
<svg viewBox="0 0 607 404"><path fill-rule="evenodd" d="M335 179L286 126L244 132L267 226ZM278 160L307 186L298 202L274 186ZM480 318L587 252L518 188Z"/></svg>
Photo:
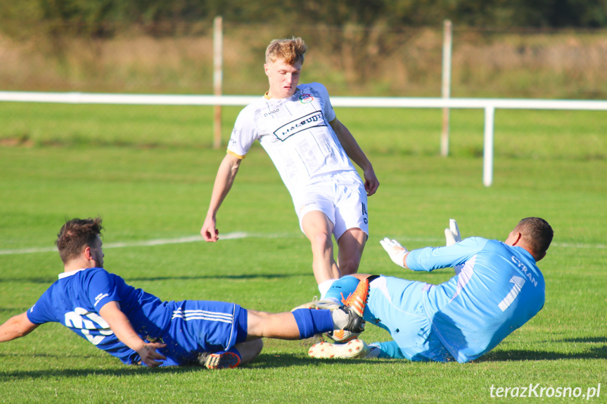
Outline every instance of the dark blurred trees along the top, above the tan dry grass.
<svg viewBox="0 0 607 404"><path fill-rule="evenodd" d="M231 23L343 27L602 28L605 0L0 0L0 31L113 37L136 27L155 36L209 30L216 15Z"/></svg>

